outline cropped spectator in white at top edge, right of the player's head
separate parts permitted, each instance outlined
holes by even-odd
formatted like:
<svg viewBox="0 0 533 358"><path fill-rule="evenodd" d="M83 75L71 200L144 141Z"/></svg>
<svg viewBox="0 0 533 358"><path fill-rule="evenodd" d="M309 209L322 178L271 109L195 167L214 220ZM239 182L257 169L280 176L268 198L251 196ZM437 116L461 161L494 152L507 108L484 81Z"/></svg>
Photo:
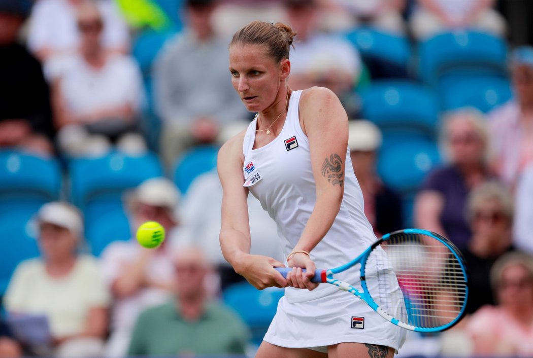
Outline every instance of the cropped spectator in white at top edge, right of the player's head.
<svg viewBox="0 0 533 358"><path fill-rule="evenodd" d="M405 34L402 12L406 0L336 0L353 16L353 26L369 26L392 34Z"/></svg>

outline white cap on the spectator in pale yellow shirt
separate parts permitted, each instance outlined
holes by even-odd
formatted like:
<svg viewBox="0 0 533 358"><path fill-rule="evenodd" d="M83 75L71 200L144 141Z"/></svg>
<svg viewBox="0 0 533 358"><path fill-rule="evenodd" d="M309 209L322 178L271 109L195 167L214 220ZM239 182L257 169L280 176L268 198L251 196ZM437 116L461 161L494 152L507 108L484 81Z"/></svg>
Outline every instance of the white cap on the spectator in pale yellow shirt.
<svg viewBox="0 0 533 358"><path fill-rule="evenodd" d="M77 238L83 235L83 219L79 210L66 202L49 202L37 212L39 224L49 223L64 227L76 234Z"/></svg>

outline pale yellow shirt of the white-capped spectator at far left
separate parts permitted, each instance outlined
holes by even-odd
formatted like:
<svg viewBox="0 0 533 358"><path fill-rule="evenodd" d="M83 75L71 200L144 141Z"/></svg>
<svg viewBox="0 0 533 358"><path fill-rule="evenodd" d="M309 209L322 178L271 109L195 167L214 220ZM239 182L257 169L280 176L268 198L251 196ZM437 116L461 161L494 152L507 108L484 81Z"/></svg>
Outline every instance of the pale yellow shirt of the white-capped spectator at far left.
<svg viewBox="0 0 533 358"><path fill-rule="evenodd" d="M87 312L109 306L110 296L90 256L79 256L63 278L51 277L40 259L30 259L15 270L4 304L8 312L46 315L52 335L62 337L82 332Z"/></svg>

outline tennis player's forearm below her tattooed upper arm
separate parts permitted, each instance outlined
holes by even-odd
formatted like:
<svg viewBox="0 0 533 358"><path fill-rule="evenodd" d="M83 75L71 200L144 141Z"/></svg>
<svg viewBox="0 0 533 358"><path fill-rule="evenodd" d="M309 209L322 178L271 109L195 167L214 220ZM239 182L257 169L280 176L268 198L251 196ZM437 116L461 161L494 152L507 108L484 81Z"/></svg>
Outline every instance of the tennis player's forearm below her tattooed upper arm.
<svg viewBox="0 0 533 358"><path fill-rule="evenodd" d="M317 197L313 212L293 251L310 252L332 227L342 202L342 191L336 189L327 190Z"/></svg>

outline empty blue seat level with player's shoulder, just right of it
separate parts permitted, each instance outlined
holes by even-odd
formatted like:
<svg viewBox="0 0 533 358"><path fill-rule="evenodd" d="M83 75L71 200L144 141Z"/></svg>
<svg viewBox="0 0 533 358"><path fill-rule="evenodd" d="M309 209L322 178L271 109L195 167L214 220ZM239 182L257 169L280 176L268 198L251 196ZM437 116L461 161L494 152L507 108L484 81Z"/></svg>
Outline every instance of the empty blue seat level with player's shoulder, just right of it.
<svg viewBox="0 0 533 358"><path fill-rule="evenodd" d="M433 91L416 82L381 80L360 92L363 118L373 121L384 137L394 133L434 139L439 120Z"/></svg>

